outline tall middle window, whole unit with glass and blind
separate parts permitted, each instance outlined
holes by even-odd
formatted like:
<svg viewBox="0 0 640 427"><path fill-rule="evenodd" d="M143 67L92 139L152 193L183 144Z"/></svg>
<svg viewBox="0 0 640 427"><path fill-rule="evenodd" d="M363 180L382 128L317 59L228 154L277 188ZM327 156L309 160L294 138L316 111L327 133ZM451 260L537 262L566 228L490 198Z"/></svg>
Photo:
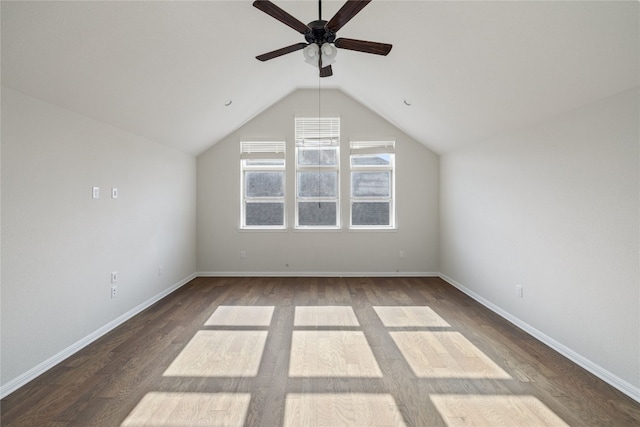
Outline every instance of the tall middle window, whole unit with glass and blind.
<svg viewBox="0 0 640 427"><path fill-rule="evenodd" d="M296 117L296 227L340 226L340 118Z"/></svg>

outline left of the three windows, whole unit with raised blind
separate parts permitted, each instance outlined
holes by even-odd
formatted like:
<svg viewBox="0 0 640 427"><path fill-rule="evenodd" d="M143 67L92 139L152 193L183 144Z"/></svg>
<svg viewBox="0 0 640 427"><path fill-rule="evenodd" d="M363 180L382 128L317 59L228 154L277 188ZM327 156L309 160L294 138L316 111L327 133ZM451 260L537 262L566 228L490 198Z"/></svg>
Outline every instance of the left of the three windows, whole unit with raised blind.
<svg viewBox="0 0 640 427"><path fill-rule="evenodd" d="M241 142L242 228L285 227L285 143Z"/></svg>

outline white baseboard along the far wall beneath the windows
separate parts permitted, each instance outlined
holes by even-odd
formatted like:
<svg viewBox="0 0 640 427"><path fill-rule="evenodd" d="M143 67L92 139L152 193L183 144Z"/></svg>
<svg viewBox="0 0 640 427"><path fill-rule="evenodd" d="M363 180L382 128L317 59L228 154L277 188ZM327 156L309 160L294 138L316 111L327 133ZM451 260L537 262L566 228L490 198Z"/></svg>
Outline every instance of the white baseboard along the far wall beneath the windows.
<svg viewBox="0 0 640 427"><path fill-rule="evenodd" d="M429 271L199 271L198 277L440 277Z"/></svg>

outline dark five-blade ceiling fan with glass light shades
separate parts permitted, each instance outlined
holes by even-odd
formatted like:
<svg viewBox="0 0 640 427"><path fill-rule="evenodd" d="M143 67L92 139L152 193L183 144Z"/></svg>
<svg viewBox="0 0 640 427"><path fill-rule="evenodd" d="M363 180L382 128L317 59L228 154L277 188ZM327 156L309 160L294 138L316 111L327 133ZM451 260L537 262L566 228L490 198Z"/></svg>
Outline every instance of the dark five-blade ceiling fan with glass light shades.
<svg viewBox="0 0 640 427"><path fill-rule="evenodd" d="M329 21L322 19L322 0L318 1L318 20L309 24L304 24L294 18L280 7L276 6L269 0L256 0L253 5L293 28L300 34L304 35L306 43L300 42L291 46L283 47L272 52L267 52L256 56L260 61L268 61L287 53L304 49L304 55L307 62L318 66L320 77L329 77L333 75L331 63L334 61L336 49L355 50L364 53L373 53L375 55L387 55L392 45L386 43L370 42L365 40L355 40L347 38L336 38L336 33L347 22L351 20L358 12L360 12L371 0L347 0L340 10ZM323 61L324 56L324 61Z"/></svg>

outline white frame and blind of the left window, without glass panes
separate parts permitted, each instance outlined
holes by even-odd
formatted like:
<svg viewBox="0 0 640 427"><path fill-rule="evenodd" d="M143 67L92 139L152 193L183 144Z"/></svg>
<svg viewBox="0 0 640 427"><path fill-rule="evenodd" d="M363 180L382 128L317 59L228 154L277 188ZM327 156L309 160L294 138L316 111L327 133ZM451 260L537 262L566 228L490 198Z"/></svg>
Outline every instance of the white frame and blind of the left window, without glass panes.
<svg viewBox="0 0 640 427"><path fill-rule="evenodd" d="M286 156L285 141L241 141L240 142L240 229L244 230L282 230L287 228L286 203ZM251 160L282 160L281 165L251 165ZM281 197L247 197L245 176L247 172L283 172L283 194ZM282 203L282 225L247 225L247 202Z"/></svg>

